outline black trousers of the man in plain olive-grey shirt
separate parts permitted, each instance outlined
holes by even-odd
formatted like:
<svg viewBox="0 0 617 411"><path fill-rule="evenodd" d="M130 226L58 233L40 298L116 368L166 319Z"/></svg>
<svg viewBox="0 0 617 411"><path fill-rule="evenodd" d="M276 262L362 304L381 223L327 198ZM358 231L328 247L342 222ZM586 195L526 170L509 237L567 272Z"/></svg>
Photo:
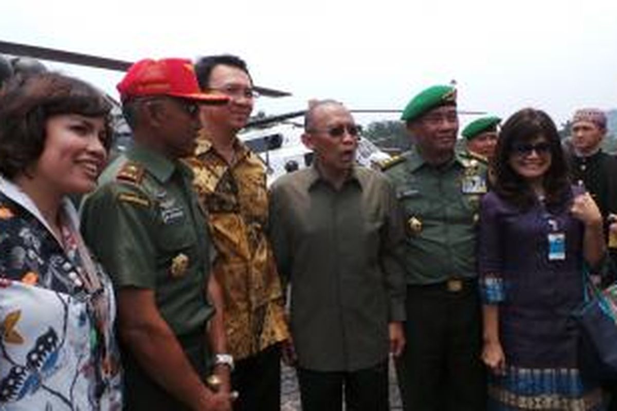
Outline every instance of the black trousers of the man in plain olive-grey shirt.
<svg viewBox="0 0 617 411"><path fill-rule="evenodd" d="M302 411L341 411L343 390L347 411L387 411L387 360L353 372L298 368Z"/></svg>

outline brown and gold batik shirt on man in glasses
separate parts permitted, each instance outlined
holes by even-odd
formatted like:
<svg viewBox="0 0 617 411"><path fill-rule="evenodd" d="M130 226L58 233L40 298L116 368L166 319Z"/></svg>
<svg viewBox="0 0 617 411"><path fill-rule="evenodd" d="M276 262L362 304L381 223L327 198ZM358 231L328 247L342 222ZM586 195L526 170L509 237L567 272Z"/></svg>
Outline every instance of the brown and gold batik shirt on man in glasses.
<svg viewBox="0 0 617 411"><path fill-rule="evenodd" d="M246 145L239 140L235 144L236 161L230 166L201 134L195 156L186 161L217 249L213 272L223 289L228 349L242 359L286 340L289 333L265 232L265 169Z"/></svg>

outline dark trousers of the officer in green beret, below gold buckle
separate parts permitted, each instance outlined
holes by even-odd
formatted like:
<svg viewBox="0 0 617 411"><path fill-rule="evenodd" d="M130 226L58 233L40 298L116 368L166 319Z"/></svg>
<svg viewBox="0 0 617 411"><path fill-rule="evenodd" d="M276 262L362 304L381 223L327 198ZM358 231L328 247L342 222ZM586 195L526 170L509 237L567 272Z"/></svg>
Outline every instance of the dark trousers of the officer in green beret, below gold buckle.
<svg viewBox="0 0 617 411"><path fill-rule="evenodd" d="M396 364L405 410L486 409L478 285L462 284L407 288L407 344Z"/></svg>

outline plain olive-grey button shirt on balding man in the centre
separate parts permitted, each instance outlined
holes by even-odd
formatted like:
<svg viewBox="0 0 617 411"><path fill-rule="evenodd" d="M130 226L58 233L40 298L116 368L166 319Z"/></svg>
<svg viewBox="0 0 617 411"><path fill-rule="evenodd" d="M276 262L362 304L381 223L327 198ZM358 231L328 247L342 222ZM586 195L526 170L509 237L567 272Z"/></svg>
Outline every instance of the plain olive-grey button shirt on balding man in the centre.
<svg viewBox="0 0 617 411"><path fill-rule="evenodd" d="M402 221L383 174L357 167L340 190L315 166L274 182L271 240L291 282L301 367L354 371L385 360L388 323L405 319Z"/></svg>

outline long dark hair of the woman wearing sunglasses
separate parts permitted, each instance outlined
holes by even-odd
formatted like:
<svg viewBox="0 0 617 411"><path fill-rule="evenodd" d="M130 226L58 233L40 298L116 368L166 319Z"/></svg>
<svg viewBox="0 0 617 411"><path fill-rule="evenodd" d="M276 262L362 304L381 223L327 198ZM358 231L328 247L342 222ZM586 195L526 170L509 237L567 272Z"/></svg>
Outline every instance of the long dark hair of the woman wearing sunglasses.
<svg viewBox="0 0 617 411"><path fill-rule="evenodd" d="M515 144L529 142L539 136L547 139L551 153L550 168L543 179L546 205L551 210L558 210L565 206L565 200L571 195L570 183L557 127L542 110L523 108L503 124L492 160L494 190L521 210L533 205L534 193L523 177L511 168L510 156Z"/></svg>

